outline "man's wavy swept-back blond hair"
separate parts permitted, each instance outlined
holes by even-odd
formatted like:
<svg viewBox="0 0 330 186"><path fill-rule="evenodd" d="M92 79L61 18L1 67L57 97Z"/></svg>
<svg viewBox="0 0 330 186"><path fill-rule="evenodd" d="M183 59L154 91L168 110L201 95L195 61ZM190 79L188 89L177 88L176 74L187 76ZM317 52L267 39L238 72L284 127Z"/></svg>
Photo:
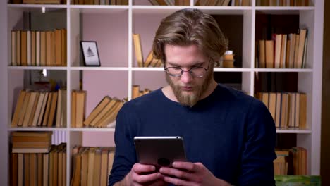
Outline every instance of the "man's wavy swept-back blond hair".
<svg viewBox="0 0 330 186"><path fill-rule="evenodd" d="M166 44L185 46L196 44L204 55L219 61L228 47L216 20L207 13L197 9L182 9L172 13L158 27L152 50L154 58L166 61L164 46Z"/></svg>

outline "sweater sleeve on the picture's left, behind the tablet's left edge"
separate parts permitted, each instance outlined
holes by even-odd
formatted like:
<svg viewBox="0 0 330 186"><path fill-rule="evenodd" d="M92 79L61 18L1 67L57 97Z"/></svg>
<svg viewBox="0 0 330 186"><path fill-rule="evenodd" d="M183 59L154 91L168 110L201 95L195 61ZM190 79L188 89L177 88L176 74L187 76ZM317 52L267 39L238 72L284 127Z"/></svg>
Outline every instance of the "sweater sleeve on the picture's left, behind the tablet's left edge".
<svg viewBox="0 0 330 186"><path fill-rule="evenodd" d="M116 152L111 175L109 176L109 186L123 180L130 172L134 163L137 162L133 143L134 130L131 127L132 123L136 123L136 120L138 120L138 118L132 107L128 106L128 104L124 104L116 118L116 130L114 134Z"/></svg>

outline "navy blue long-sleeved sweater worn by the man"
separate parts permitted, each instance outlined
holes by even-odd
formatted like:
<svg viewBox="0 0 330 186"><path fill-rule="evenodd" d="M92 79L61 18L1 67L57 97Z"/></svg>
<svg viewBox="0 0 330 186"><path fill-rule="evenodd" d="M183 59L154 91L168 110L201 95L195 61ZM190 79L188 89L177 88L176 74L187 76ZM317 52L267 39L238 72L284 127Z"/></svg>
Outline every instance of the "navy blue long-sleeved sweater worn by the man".
<svg viewBox="0 0 330 186"><path fill-rule="evenodd" d="M134 163L133 137L182 136L188 161L201 162L233 185L274 185L276 129L261 101L218 85L193 107L158 89L124 104L116 119L116 154L109 185Z"/></svg>

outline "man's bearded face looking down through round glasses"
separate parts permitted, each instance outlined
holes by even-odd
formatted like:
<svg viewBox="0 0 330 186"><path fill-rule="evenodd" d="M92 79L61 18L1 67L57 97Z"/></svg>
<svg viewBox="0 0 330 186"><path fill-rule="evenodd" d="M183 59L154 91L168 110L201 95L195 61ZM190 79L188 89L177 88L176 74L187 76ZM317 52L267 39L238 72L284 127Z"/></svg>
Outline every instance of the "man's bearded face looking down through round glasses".
<svg viewBox="0 0 330 186"><path fill-rule="evenodd" d="M166 68L178 67L185 71L193 67L209 68L203 77L194 77L184 72L181 77L172 77L166 73L166 81L171 86L178 102L185 106L194 106L203 97L213 80L213 63L202 54L196 45L174 46L166 44ZM211 64L209 64L211 63Z"/></svg>

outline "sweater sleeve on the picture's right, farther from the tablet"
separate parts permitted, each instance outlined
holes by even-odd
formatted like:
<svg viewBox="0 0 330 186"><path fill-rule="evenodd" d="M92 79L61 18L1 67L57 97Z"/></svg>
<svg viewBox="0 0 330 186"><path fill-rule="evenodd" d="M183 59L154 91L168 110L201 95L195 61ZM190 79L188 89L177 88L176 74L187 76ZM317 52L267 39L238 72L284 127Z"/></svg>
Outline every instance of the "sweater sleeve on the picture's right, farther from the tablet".
<svg viewBox="0 0 330 186"><path fill-rule="evenodd" d="M276 128L267 107L252 99L245 123L238 185L275 185Z"/></svg>

